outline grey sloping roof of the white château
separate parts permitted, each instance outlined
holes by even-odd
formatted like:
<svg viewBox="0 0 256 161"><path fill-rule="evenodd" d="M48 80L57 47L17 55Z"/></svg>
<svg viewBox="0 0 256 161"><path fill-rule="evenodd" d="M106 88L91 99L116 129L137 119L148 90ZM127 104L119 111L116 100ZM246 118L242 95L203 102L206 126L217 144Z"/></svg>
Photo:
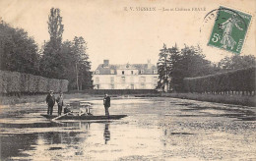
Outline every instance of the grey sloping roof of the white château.
<svg viewBox="0 0 256 161"><path fill-rule="evenodd" d="M111 70L113 71L112 74L111 74ZM154 70L158 70L158 68L153 64L122 64L122 65L108 64L108 66L104 66L104 64L99 64L96 68L96 71L98 71L99 74L96 74L96 71L94 72L94 74L95 75L116 75L117 70L138 70L139 75L141 71L143 71L142 75L153 75L155 74Z"/></svg>

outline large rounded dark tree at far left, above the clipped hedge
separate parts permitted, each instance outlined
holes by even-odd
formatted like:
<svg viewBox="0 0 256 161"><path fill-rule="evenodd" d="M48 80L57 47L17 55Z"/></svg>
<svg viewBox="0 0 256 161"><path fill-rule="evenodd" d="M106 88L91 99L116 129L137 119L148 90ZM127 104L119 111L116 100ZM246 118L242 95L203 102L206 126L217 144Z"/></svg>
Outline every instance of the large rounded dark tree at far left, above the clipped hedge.
<svg viewBox="0 0 256 161"><path fill-rule="evenodd" d="M37 44L22 28L0 23L0 69L38 75Z"/></svg>

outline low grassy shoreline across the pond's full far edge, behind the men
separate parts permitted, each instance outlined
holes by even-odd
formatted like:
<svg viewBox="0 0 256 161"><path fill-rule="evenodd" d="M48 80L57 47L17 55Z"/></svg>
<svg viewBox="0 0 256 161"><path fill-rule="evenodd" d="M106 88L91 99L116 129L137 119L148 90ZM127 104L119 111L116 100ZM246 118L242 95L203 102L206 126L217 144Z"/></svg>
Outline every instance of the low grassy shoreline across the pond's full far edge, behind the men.
<svg viewBox="0 0 256 161"><path fill-rule="evenodd" d="M57 94L55 94L57 96ZM256 96L249 95L215 95L200 93L148 93L148 94L110 94L113 98L138 98L138 97L172 97L180 99L191 99L198 101L216 102L224 104L234 104L243 106L256 107ZM98 98L103 97L101 94L84 94L84 93L64 93L66 99L70 98ZM44 102L46 94L24 95L24 96L0 96L1 105L16 105L22 103L40 103Z"/></svg>

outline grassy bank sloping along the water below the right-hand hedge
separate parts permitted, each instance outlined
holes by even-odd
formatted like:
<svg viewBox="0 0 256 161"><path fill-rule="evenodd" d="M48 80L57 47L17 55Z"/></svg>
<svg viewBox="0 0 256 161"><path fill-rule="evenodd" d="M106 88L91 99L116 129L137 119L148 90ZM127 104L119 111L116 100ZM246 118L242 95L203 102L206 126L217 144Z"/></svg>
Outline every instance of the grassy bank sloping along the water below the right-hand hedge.
<svg viewBox="0 0 256 161"><path fill-rule="evenodd" d="M161 93L161 96L256 107L256 96L200 93Z"/></svg>

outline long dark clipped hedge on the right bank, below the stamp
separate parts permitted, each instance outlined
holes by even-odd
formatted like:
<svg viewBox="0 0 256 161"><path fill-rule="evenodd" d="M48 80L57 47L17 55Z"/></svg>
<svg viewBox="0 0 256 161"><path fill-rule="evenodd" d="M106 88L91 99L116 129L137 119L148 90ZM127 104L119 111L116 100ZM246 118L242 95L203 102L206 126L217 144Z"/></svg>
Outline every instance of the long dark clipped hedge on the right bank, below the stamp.
<svg viewBox="0 0 256 161"><path fill-rule="evenodd" d="M255 71L256 68L248 68L217 75L185 78L183 85L187 92L233 93L239 91L254 94Z"/></svg>

